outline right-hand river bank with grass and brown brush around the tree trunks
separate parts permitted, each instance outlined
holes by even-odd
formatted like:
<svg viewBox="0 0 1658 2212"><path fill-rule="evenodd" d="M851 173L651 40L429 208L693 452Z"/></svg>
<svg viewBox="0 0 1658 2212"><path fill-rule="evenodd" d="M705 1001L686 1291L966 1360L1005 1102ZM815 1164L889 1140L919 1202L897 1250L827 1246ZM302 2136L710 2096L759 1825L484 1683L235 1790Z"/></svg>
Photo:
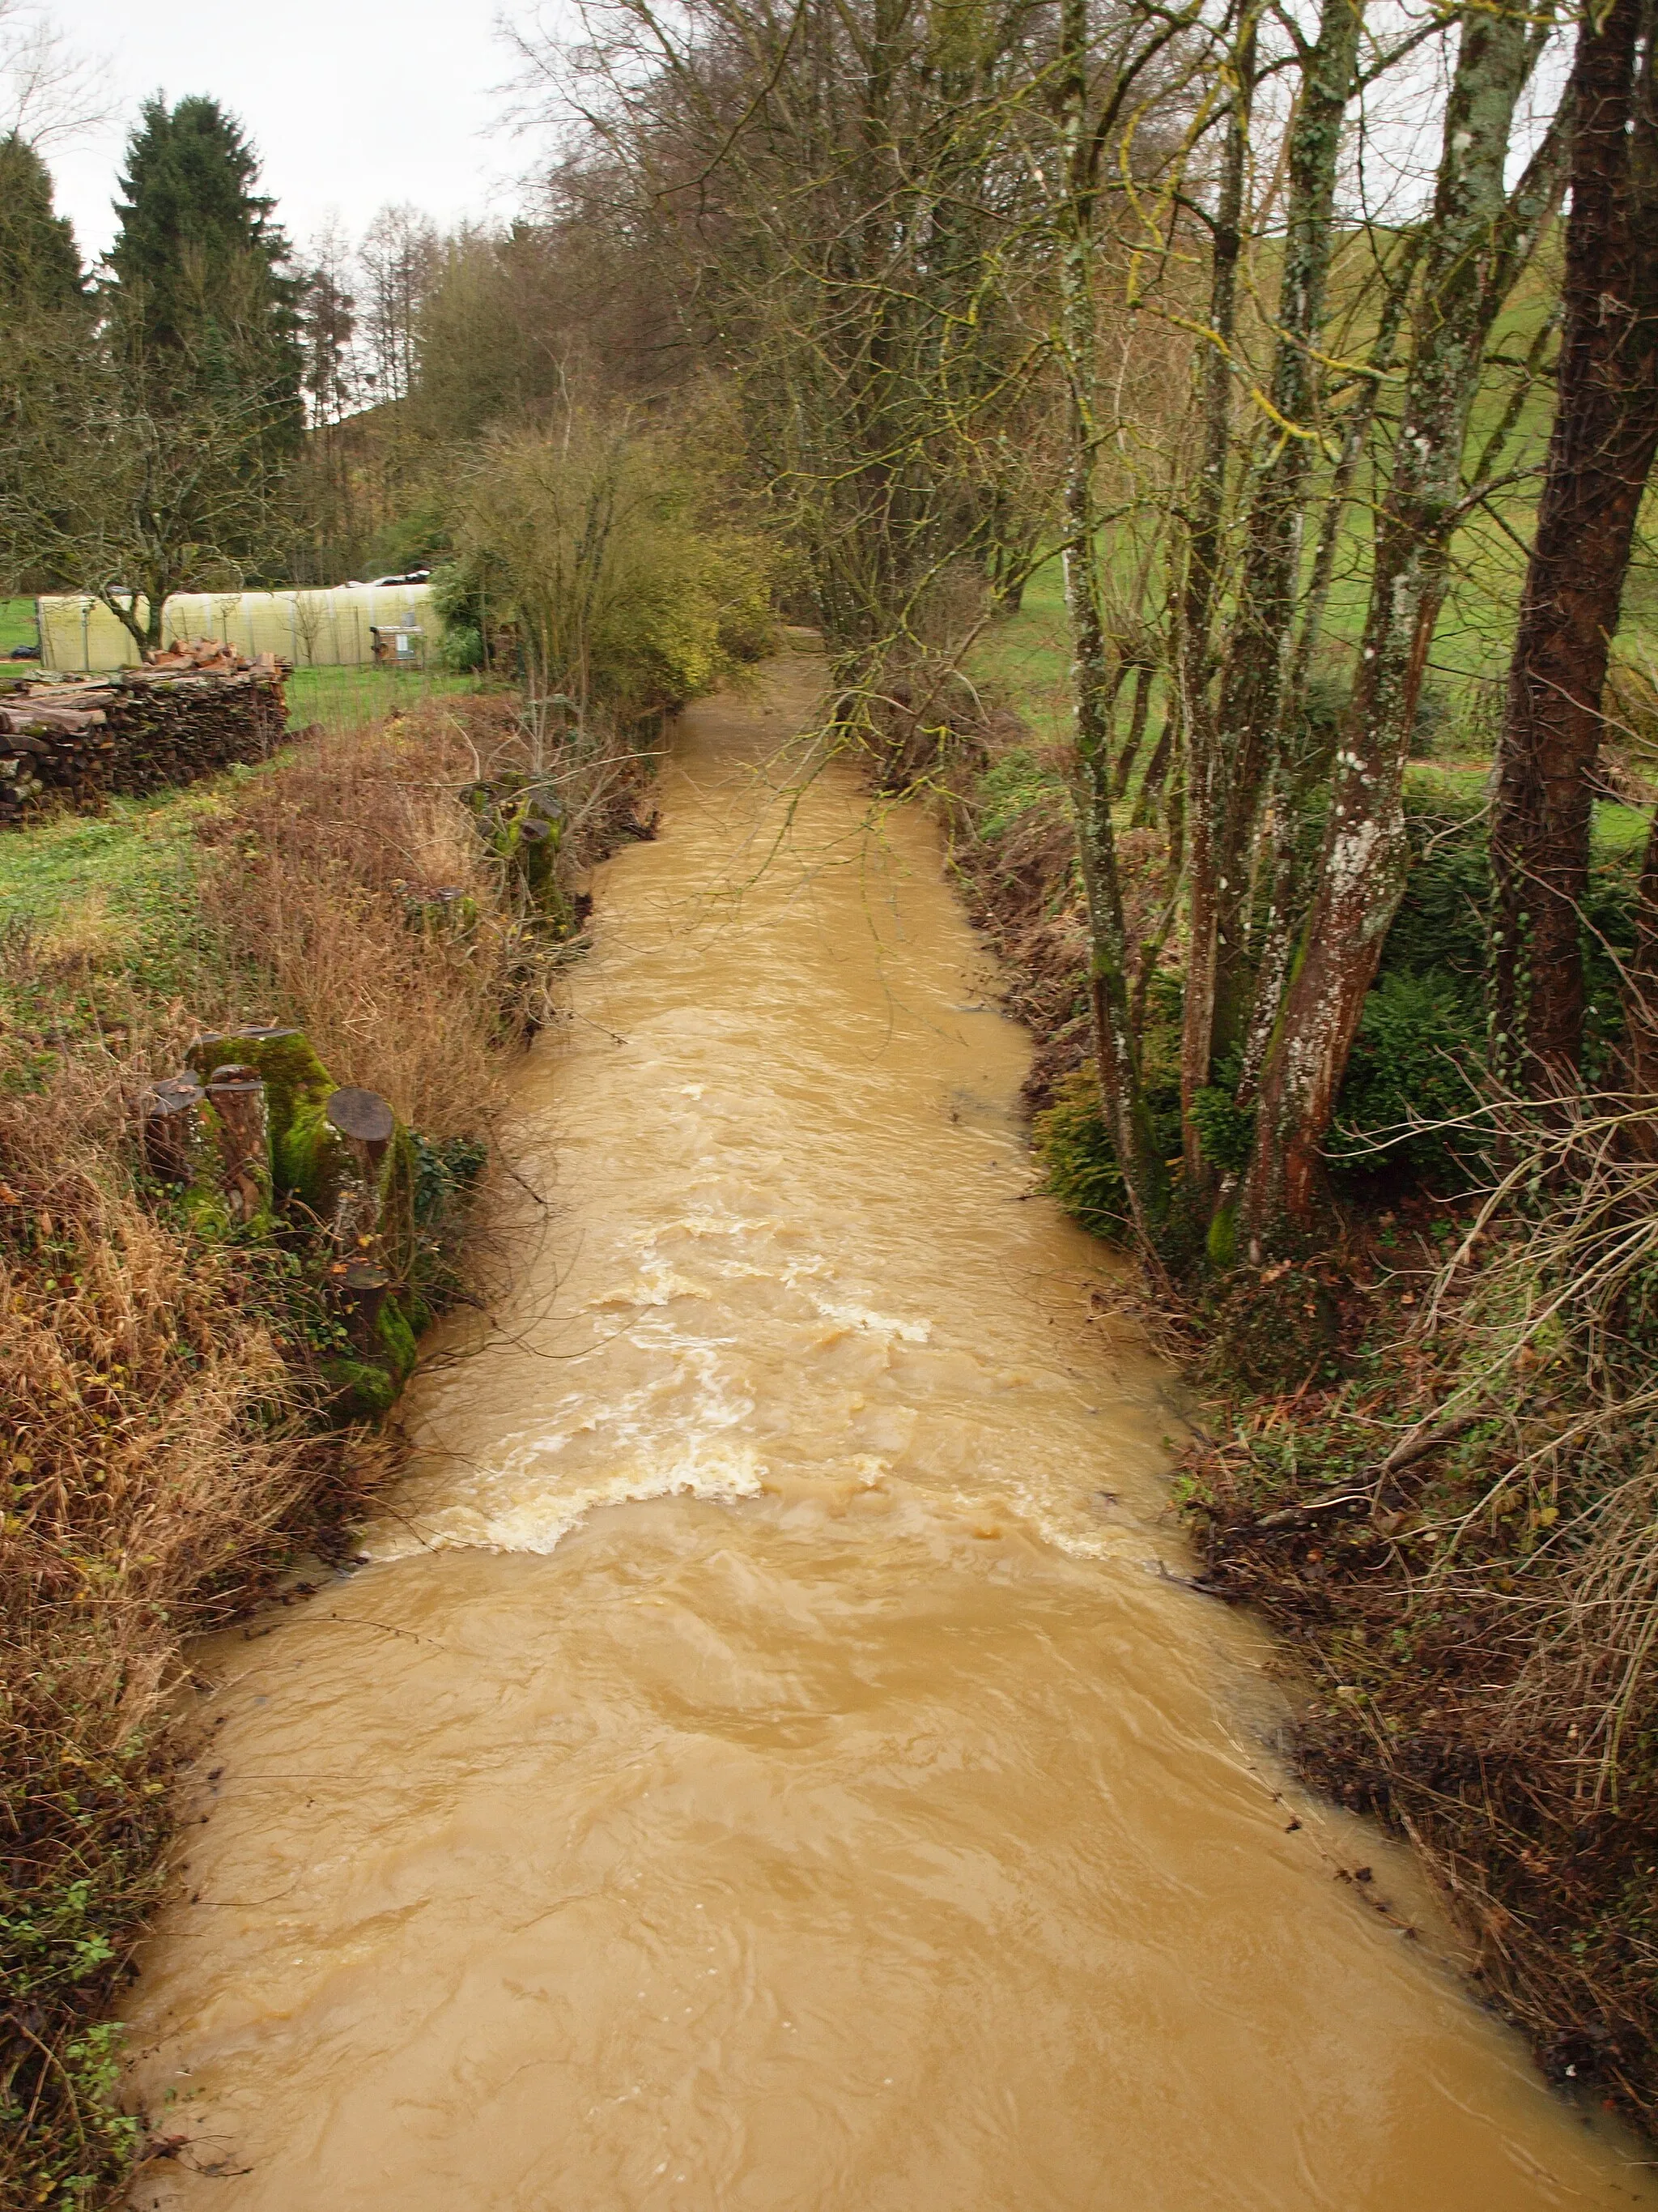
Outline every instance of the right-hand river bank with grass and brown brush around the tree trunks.
<svg viewBox="0 0 1658 2212"><path fill-rule="evenodd" d="M1037 1035L1048 1183L1110 1237L1123 1188L1048 754L1063 655L1063 611L1037 593L986 641L977 675L1004 706L966 719L942 781L964 896ZM1335 1245L1192 1285L1209 1407L1180 1504L1207 1588L1289 1641L1289 1754L1417 1843L1550 2077L1658 2130L1658 1170L1627 1115L1559 1130L1481 1106L1481 785L1477 763L1413 770L1410 887L1337 1108ZM1607 1068L1645 834L1640 807L1596 814ZM1138 942L1169 883L1132 794L1119 838ZM1176 942L1147 1004L1147 1095L1178 1161Z"/></svg>

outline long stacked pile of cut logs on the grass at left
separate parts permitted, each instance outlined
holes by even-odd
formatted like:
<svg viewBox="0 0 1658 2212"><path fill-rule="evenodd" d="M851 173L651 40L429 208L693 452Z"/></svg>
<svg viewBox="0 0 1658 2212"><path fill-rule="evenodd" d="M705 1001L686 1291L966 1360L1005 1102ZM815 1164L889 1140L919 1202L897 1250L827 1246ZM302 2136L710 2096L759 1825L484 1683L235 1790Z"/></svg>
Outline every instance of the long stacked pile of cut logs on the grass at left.
<svg viewBox="0 0 1658 2212"><path fill-rule="evenodd" d="M270 655L186 646L115 677L0 688L0 827L270 759L287 723L283 677Z"/></svg>

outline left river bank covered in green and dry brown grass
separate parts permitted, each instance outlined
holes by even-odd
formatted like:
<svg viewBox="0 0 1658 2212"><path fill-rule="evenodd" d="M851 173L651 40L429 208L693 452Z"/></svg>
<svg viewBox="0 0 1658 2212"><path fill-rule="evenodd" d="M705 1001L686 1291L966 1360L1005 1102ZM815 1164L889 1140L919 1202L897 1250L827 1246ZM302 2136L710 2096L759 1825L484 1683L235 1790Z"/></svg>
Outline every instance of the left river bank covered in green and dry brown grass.
<svg viewBox="0 0 1658 2212"><path fill-rule="evenodd" d="M115 2022L190 1750L183 1641L327 1562L389 1464L343 1422L327 1241L157 1181L141 1102L199 1031L301 1029L416 1133L396 1294L466 1294L464 1192L550 1013L570 869L630 810L615 765L564 779L553 918L504 814L482 836L460 799L517 743L511 701L444 701L0 838L4 2203L113 2203L144 2152Z"/></svg>

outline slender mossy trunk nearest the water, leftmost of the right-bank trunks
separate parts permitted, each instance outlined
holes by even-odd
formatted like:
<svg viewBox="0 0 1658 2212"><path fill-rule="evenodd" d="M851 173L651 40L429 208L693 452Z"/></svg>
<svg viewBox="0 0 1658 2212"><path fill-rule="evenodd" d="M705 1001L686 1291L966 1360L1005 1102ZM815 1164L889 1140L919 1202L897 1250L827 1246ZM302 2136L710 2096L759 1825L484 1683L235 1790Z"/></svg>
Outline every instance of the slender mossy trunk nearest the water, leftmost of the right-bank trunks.
<svg viewBox="0 0 1658 2212"><path fill-rule="evenodd" d="M1068 385L1066 453L1066 608L1072 633L1072 726L1077 765L1072 807L1088 898L1088 995L1101 1106L1127 1186L1134 1234L1150 1254L1163 1225L1167 1177L1141 1088L1130 1004L1123 885L1112 827L1112 679L1103 617L1103 546L1094 495L1099 453L1094 319L1094 199L1088 137L1088 0L1063 0L1059 115L1066 197L1059 250L1059 352Z"/></svg>

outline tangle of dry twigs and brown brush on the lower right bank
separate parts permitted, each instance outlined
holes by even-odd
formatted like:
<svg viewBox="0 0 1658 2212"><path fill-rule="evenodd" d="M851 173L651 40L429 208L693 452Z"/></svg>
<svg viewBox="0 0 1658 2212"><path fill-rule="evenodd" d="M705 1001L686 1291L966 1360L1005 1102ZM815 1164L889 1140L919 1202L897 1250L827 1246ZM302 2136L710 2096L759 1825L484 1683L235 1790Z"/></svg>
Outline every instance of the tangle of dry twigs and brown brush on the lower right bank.
<svg viewBox="0 0 1658 2212"><path fill-rule="evenodd" d="M1309 1659L1309 1772L1408 1829L1547 2073L1651 2130L1658 1168L1631 1102L1499 1119L1461 1248L1373 1285L1342 1380L1240 1400L1192 1509Z"/></svg>

